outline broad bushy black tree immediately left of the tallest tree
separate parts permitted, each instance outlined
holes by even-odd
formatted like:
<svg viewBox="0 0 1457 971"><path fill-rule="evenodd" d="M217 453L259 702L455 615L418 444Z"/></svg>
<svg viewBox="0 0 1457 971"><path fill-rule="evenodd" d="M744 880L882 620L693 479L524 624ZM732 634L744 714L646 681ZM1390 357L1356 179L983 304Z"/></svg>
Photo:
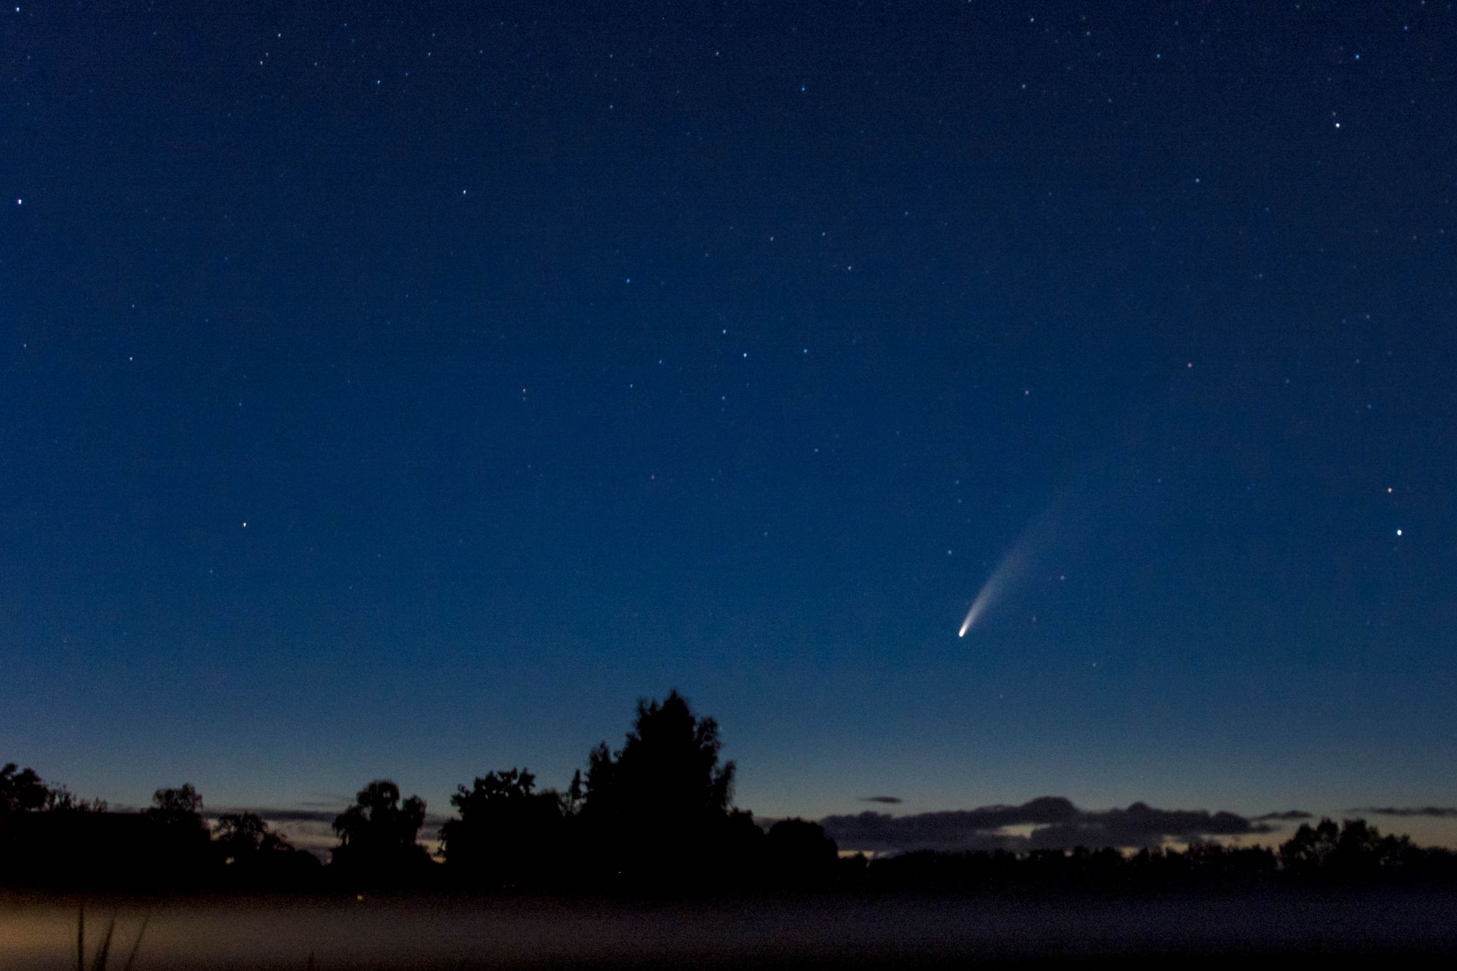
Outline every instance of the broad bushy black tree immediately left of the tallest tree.
<svg viewBox="0 0 1457 971"><path fill-rule="evenodd" d="M472 786L456 786L450 804L460 814L440 827L446 866L466 884L543 885L559 882L571 795L533 792L525 769L488 772Z"/></svg>

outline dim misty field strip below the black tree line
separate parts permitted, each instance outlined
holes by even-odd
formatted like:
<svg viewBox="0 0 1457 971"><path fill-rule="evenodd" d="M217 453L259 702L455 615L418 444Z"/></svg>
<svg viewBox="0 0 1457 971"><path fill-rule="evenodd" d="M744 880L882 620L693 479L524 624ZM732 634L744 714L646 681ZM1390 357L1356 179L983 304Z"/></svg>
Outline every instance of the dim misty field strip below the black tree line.
<svg viewBox="0 0 1457 971"><path fill-rule="evenodd" d="M77 900L0 897L0 968L76 967ZM1457 956L1457 892L1135 900L779 898L745 903L87 900L87 955L117 916L121 968L1228 967L1295 955ZM1415 961L1413 961L1415 959ZM90 958L87 958L87 967Z"/></svg>

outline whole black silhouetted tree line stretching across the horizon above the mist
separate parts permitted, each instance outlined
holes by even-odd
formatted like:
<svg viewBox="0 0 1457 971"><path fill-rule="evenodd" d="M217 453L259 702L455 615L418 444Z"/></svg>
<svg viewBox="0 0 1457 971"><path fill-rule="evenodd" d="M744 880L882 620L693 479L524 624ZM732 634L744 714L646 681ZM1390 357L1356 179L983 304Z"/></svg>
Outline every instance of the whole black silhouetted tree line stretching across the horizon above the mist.
<svg viewBox="0 0 1457 971"><path fill-rule="evenodd" d="M1457 882L1457 856L1383 836L1362 820L1301 825L1279 847L1036 850L867 859L825 830L779 820L766 831L734 808L734 763L712 718L676 691L638 702L624 745L589 753L565 789L526 769L457 786L439 855L420 843L425 802L390 780L364 786L334 818L328 865L254 812L208 824L192 785L159 789L143 812L109 812L0 769L0 884L197 891L456 888L472 891L723 892L753 889L1046 891Z"/></svg>

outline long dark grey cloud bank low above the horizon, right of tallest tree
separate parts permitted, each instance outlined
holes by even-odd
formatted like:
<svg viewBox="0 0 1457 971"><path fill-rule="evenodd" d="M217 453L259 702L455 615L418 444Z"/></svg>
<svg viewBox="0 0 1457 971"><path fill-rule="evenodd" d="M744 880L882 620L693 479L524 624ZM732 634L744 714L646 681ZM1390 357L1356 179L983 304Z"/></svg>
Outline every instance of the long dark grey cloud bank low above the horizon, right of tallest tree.
<svg viewBox="0 0 1457 971"><path fill-rule="evenodd" d="M865 811L820 820L842 850L1034 850L1158 846L1215 836L1271 833L1272 827L1234 812L1155 809L1135 802L1126 809L1080 809L1069 799L1042 796L1017 806L992 805L893 817ZM1023 836L1008 827L1032 827Z"/></svg>

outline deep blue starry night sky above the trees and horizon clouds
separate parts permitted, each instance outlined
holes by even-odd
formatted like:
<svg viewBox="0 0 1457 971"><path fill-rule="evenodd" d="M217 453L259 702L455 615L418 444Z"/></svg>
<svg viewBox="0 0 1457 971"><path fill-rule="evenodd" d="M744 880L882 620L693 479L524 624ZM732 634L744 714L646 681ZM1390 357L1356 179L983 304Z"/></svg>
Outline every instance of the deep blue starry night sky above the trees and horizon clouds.
<svg viewBox="0 0 1457 971"><path fill-rule="evenodd" d="M0 761L434 814L676 687L765 817L1450 806L1454 51L1423 1L4 7Z"/></svg>

